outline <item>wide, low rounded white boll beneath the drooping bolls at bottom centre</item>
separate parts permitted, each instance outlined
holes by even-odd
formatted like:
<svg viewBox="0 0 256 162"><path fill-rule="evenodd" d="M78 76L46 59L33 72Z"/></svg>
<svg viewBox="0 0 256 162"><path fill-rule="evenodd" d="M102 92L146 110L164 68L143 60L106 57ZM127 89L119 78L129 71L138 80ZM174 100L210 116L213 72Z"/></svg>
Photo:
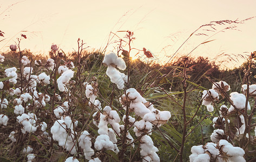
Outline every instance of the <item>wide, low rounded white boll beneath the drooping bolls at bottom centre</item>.
<svg viewBox="0 0 256 162"><path fill-rule="evenodd" d="M106 150L112 150L114 151L114 144L110 141L108 135L101 134L98 136L95 140L94 147L96 150L102 150L103 148Z"/></svg>

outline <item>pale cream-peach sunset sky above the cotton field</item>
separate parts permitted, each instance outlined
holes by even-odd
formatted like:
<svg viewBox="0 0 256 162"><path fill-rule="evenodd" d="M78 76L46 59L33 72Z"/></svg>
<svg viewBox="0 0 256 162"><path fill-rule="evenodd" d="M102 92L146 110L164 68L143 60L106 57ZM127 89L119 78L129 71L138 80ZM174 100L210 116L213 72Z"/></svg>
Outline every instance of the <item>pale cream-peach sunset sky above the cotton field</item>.
<svg viewBox="0 0 256 162"><path fill-rule="evenodd" d="M78 38L83 39L90 49L103 49L110 31L130 30L136 37L133 48L149 49L159 60L167 60L164 56L172 56L199 26L211 21L241 21L256 16L255 6L254 0L0 0L0 30L5 32L6 38L0 42L0 51L9 50L9 45L14 44L21 33L28 37L22 40L22 49L30 49L35 53L48 53L51 44L57 44L65 52L74 51L73 48L77 49ZM226 30L208 39L216 40L200 45L191 56L214 58L223 52L245 55L244 52L256 50L256 18L237 26L238 30ZM226 27L214 26L218 30ZM28 32L21 32L24 30ZM201 32L209 36L214 34L203 30ZM123 37L121 32L117 35ZM179 55L190 52L206 38L192 36L182 46ZM115 47L116 44L110 44L107 50L115 51Z"/></svg>

